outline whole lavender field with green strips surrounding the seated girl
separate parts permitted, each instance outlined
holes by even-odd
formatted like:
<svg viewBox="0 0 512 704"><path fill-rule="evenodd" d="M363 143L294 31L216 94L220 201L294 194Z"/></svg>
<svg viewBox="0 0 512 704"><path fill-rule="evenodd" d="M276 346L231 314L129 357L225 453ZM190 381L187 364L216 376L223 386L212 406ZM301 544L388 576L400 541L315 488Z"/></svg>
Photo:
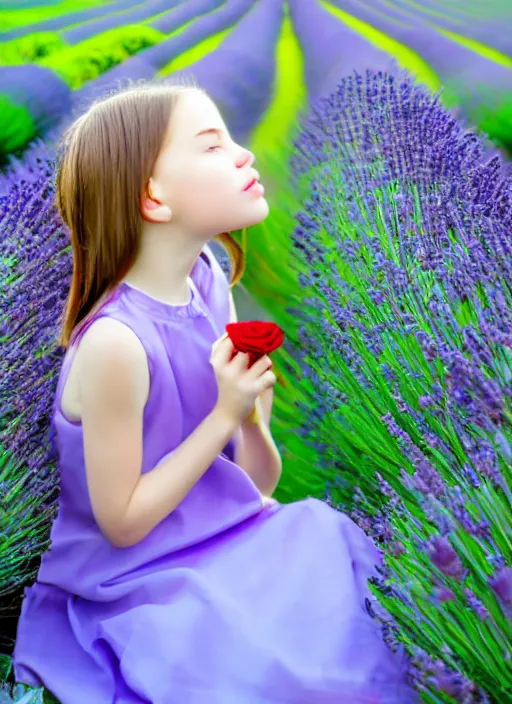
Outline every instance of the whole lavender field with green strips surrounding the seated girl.
<svg viewBox="0 0 512 704"><path fill-rule="evenodd" d="M234 296L241 319L286 333L276 498L328 500L385 548L383 628L424 701L511 702L512 5L13 0L0 41L5 677L57 491L55 142L118 85L190 76L255 152L271 205Z"/></svg>

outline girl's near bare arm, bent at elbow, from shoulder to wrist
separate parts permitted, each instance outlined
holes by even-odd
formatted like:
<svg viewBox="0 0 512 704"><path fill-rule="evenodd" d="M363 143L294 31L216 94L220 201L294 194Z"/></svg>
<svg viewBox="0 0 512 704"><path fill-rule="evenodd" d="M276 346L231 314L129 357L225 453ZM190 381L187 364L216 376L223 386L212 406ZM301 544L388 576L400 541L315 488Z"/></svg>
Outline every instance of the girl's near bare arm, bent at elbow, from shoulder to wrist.
<svg viewBox="0 0 512 704"><path fill-rule="evenodd" d="M86 476L94 517L116 547L128 547L181 503L236 427L214 409L165 462L142 474L142 420L149 392L144 348L129 328L102 318L85 333L79 357Z"/></svg>

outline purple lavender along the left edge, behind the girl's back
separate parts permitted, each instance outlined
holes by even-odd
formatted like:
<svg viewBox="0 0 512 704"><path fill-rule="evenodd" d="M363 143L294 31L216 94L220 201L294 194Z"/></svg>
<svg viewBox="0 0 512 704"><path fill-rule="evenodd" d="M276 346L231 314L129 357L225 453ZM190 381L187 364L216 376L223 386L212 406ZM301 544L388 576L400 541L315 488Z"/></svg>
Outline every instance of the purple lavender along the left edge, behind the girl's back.
<svg viewBox="0 0 512 704"><path fill-rule="evenodd" d="M12 165L0 196L2 617L16 613L21 587L37 571L58 496L50 417L71 253L54 204L55 155L37 151L26 170Z"/></svg>

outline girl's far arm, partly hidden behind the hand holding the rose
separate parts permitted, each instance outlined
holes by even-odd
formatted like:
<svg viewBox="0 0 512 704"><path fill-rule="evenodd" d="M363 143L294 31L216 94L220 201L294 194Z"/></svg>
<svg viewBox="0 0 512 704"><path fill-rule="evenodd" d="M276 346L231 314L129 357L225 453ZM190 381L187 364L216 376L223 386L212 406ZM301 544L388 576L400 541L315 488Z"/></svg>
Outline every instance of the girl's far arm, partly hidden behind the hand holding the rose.
<svg viewBox="0 0 512 704"><path fill-rule="evenodd" d="M236 323L235 302L229 294L230 322ZM260 492L271 496L279 482L282 460L270 432L273 389L256 400L254 411L242 423L237 435L235 462L251 477Z"/></svg>

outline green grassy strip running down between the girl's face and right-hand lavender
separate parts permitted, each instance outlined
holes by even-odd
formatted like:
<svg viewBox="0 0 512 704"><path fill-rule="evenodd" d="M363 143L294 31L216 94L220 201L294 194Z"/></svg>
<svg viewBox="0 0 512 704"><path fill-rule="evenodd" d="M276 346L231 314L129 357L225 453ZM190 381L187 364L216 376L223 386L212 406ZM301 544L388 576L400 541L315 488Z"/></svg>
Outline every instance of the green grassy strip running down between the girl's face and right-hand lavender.
<svg viewBox="0 0 512 704"><path fill-rule="evenodd" d="M301 205L290 188L288 161L297 120L306 106L303 64L301 47L286 13L276 47L273 100L250 143L257 156L256 168L265 185L270 215L248 232L243 286L286 331L292 345L297 344L298 326L287 308L300 304L301 290L289 266L290 233ZM298 364L283 347L273 353L272 359L279 379L274 388L272 434L283 459L283 474L274 496L282 503L306 496L322 498L326 476L317 466L315 451L295 432L296 404L305 403L308 398L302 384L297 384Z"/></svg>

